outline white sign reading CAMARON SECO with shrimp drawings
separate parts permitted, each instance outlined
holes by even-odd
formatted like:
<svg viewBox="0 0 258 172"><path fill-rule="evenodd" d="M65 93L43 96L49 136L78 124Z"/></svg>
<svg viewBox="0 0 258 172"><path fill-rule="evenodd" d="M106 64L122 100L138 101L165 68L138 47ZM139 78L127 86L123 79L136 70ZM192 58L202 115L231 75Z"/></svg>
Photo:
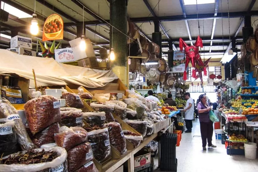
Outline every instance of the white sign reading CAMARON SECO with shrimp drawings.
<svg viewBox="0 0 258 172"><path fill-rule="evenodd" d="M74 55L73 55L72 48L56 49L55 50L55 60L58 63L76 61L76 59L74 58Z"/></svg>

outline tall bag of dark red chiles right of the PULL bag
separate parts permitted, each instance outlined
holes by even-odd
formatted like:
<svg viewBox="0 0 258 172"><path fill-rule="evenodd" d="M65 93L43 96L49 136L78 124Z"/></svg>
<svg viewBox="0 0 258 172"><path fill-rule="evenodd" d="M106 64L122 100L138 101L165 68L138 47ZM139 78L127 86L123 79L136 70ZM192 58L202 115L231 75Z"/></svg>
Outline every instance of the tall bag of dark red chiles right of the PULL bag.
<svg viewBox="0 0 258 172"><path fill-rule="evenodd" d="M108 128L110 144L114 146L121 154L127 152L126 149L126 139L122 128L118 122L110 122L104 124L104 127Z"/></svg>

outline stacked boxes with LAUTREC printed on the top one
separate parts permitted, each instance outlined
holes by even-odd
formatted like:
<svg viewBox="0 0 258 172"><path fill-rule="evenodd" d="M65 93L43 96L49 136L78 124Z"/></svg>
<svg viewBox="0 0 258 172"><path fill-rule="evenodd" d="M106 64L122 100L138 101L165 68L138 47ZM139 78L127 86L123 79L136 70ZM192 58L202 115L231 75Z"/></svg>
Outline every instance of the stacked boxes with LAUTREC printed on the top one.
<svg viewBox="0 0 258 172"><path fill-rule="evenodd" d="M11 48L7 50L17 52L27 56L36 56L36 51L32 51L32 39L24 36L15 36L11 38Z"/></svg>

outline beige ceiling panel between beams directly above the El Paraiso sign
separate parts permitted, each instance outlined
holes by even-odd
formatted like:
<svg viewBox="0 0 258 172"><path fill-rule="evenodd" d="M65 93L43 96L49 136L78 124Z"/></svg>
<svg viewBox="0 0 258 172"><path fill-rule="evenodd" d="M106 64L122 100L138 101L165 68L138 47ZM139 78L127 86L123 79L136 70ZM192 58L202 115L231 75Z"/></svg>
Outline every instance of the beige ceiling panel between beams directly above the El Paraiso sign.
<svg viewBox="0 0 258 172"><path fill-rule="evenodd" d="M185 21L163 21L163 26L170 30L167 32L167 34L171 38L187 38L188 33L185 26Z"/></svg>

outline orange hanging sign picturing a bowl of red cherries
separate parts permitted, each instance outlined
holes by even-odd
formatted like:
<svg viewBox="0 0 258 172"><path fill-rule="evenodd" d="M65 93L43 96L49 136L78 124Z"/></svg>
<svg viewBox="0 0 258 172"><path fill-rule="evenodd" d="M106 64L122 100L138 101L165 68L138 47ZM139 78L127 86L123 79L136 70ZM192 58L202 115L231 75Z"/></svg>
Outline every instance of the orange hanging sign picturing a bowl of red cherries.
<svg viewBox="0 0 258 172"><path fill-rule="evenodd" d="M43 25L42 41L60 40L64 37L64 22L60 15L48 16Z"/></svg>

